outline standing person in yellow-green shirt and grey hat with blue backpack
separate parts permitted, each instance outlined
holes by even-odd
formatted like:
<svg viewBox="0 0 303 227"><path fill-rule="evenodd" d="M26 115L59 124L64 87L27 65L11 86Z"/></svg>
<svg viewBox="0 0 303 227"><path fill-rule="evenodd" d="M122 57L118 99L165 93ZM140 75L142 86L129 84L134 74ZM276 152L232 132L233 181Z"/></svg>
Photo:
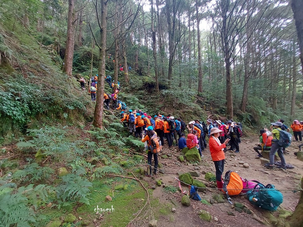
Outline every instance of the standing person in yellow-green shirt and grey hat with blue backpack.
<svg viewBox="0 0 303 227"><path fill-rule="evenodd" d="M270 129L272 130L271 132L267 129L264 128L266 135L267 136L272 136L273 139L271 140L271 149L269 153L269 163L265 164L264 166L267 167L268 169L273 169L274 168L274 161L275 161L275 153L278 151L278 156L281 159L281 166L278 168L286 169L285 167L285 158L283 154L283 148L278 144L278 141L280 139L280 131L282 130L283 123L280 121L277 121L275 123L271 123ZM274 127L274 129L273 129Z"/></svg>

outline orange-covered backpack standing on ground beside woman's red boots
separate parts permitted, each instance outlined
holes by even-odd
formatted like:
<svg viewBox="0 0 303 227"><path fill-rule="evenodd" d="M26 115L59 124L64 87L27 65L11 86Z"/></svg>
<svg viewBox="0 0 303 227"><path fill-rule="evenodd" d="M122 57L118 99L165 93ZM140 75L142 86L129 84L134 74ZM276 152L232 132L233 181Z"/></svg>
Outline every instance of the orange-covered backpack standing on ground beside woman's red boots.
<svg viewBox="0 0 303 227"><path fill-rule="evenodd" d="M222 191L226 193L228 202L230 202L231 200L229 196L239 195L242 189L243 189L243 182L241 180L241 177L238 175L238 173L235 173L231 170L227 171L225 173L225 179L224 179Z"/></svg>

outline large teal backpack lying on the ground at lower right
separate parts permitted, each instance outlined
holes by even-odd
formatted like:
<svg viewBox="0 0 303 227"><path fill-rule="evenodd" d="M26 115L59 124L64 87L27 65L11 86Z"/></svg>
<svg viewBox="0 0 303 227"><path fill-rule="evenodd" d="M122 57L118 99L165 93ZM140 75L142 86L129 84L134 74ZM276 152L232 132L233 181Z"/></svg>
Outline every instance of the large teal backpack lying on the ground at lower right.
<svg viewBox="0 0 303 227"><path fill-rule="evenodd" d="M255 190L257 188L258 190ZM272 184L264 186L264 184L258 183L254 190L246 192L246 197L252 205L270 211L278 209L283 202L282 193Z"/></svg>

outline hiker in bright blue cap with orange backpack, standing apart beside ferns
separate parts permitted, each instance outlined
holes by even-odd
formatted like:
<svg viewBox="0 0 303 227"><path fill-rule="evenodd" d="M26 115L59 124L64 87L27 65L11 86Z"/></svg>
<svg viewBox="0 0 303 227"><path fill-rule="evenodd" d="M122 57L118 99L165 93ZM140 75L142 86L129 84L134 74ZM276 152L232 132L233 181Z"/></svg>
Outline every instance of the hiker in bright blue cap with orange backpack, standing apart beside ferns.
<svg viewBox="0 0 303 227"><path fill-rule="evenodd" d="M153 131L152 126L149 126L149 127L145 128L145 130L146 130L146 135L141 140L143 143L145 141L147 141L147 144L148 144L148 153L147 153L148 167L147 167L147 173L145 174L145 176L151 177L152 176L152 167L151 167L152 156L154 156L154 162L155 162L154 174L158 173L158 152L161 150L161 145L159 143L157 133L155 133ZM151 140L153 140L153 142ZM153 143L155 143L155 144L153 145ZM154 151L154 149L156 149L156 151Z"/></svg>

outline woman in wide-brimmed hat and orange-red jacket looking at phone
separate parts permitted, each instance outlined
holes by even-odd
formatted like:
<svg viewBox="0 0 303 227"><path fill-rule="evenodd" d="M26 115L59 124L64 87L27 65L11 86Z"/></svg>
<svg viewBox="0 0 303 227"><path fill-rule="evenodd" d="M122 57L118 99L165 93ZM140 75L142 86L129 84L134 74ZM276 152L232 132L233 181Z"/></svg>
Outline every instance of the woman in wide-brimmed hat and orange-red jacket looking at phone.
<svg viewBox="0 0 303 227"><path fill-rule="evenodd" d="M215 163L216 181L218 189L223 188L222 173L224 171L225 163L224 148L226 148L226 144L229 141L229 139L226 139L224 143L221 143L218 138L220 136L220 133L222 133L222 130L218 128L211 128L210 138L208 141L211 159Z"/></svg>

